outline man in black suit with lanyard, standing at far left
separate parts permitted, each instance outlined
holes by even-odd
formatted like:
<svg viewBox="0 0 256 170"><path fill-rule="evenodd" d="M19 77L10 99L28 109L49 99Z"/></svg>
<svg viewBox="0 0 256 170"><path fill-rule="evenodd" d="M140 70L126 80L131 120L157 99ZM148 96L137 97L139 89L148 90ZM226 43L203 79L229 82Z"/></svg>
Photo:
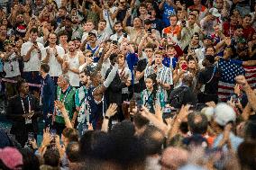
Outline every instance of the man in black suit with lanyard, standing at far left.
<svg viewBox="0 0 256 170"><path fill-rule="evenodd" d="M11 98L7 106L7 118L13 121L11 134L22 145L28 139L28 132L33 132L36 138L37 117L41 115L37 99L29 94L29 85L25 81L17 83L18 95Z"/></svg>

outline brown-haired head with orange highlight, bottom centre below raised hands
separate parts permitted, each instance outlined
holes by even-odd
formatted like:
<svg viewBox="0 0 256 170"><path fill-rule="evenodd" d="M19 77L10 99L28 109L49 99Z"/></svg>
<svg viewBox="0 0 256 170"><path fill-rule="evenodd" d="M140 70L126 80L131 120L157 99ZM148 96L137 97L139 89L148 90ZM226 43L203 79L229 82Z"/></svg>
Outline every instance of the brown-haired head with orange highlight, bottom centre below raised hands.
<svg viewBox="0 0 256 170"><path fill-rule="evenodd" d="M149 125L142 134L141 138L147 155L160 154L164 141L164 134L160 129Z"/></svg>

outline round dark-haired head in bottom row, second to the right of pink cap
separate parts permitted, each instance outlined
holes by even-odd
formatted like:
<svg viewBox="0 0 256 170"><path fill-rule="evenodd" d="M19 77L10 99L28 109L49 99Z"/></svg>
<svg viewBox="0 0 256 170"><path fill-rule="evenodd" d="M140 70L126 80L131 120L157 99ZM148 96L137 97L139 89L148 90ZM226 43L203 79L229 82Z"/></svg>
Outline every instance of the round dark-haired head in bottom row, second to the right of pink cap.
<svg viewBox="0 0 256 170"><path fill-rule="evenodd" d="M44 165L58 167L59 166L59 150L56 148L48 148L44 155Z"/></svg>

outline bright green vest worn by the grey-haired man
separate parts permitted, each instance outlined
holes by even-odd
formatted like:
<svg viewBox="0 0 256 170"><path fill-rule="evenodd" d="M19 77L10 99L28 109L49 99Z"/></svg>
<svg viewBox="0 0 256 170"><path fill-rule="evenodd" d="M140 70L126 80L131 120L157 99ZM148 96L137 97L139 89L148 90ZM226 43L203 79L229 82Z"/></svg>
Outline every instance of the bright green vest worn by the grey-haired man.
<svg viewBox="0 0 256 170"><path fill-rule="evenodd" d="M57 87L57 100L64 103L67 112L69 112L69 119L73 118L74 112L76 112L76 105L75 105L75 94L76 88L69 86L66 92L62 92L61 88ZM63 115L61 112L56 111L55 121L58 123L65 124Z"/></svg>

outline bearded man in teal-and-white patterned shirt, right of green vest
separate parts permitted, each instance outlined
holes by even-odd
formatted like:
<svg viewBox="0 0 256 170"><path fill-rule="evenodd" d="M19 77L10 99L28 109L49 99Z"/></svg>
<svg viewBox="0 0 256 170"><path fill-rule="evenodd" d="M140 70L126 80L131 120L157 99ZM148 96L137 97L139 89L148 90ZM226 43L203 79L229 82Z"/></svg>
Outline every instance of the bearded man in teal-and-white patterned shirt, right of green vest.
<svg viewBox="0 0 256 170"><path fill-rule="evenodd" d="M80 135L84 134L89 124L90 107L87 100L88 87L90 85L89 71L86 68L79 74L81 86L77 89L75 94L76 109L78 111L78 126L77 129Z"/></svg>

